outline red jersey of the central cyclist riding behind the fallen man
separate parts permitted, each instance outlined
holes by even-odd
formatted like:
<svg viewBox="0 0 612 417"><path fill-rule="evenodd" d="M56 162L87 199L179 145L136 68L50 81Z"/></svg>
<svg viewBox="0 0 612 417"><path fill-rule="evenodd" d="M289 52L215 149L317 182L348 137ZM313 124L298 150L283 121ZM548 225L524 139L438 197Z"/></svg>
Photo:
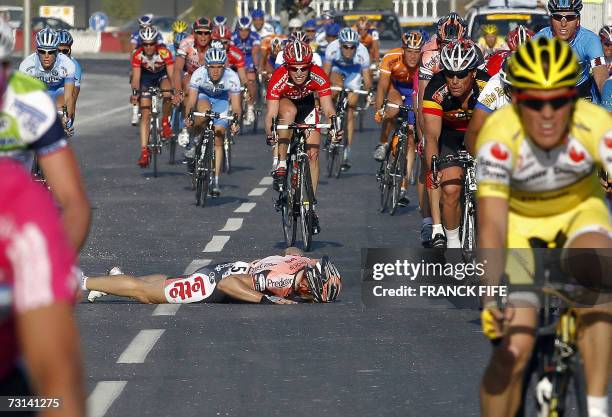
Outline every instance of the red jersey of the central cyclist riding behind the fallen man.
<svg viewBox="0 0 612 417"><path fill-rule="evenodd" d="M319 97L331 94L329 77L323 68L312 65L306 81L302 85L296 85L291 82L287 68L281 65L272 73L266 100L280 100L281 98L299 100L313 93L317 93Z"/></svg>

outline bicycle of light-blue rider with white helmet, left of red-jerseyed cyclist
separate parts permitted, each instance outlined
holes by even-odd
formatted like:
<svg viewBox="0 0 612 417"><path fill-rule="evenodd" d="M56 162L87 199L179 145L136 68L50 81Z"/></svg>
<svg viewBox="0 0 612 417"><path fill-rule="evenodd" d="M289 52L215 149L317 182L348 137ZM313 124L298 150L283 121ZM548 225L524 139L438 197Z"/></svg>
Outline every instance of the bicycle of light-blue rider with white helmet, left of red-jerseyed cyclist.
<svg viewBox="0 0 612 417"><path fill-rule="evenodd" d="M195 190L196 206L206 206L206 199L215 173L215 130L214 119L236 122L236 116L223 115L212 110L204 113L192 112L190 118L204 117L206 123L202 133L195 138L193 170L191 174L192 189Z"/></svg>

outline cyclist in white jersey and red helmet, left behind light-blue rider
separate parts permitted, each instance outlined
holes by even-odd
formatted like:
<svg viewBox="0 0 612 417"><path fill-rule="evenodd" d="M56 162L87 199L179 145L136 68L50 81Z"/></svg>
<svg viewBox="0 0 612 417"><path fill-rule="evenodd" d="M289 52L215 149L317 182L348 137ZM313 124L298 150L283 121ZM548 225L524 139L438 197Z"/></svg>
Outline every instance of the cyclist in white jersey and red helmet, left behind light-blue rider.
<svg viewBox="0 0 612 417"><path fill-rule="evenodd" d="M191 74L204 65L204 54L210 46L213 24L207 17L199 17L193 22L193 34L181 41L176 50L173 85L176 90L174 104L179 104L187 89Z"/></svg>

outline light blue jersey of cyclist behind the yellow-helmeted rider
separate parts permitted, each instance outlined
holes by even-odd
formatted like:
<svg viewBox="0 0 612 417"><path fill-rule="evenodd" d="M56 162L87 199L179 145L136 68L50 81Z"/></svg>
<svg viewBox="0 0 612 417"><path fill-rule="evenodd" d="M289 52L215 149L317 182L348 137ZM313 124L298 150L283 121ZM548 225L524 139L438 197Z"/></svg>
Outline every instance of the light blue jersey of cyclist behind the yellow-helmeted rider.
<svg viewBox="0 0 612 417"><path fill-rule="evenodd" d="M554 38L552 29L546 27L535 34L534 38L545 37L548 39ZM569 41L570 46L578 55L580 66L582 66L582 74L576 85L588 82L590 80L590 71L592 67L605 65L603 48L599 41L599 36L590 30L579 27L576 35Z"/></svg>

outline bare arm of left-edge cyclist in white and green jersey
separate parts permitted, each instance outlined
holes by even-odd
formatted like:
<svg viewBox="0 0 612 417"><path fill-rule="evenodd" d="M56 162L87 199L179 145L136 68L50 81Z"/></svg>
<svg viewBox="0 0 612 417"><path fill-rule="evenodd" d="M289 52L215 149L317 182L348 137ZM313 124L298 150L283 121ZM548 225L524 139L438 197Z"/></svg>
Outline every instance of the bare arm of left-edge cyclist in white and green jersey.
<svg viewBox="0 0 612 417"><path fill-rule="evenodd" d="M62 209L62 221L70 243L78 252L87 239L91 206L85 194L76 157L69 146L39 156L47 184Z"/></svg>

